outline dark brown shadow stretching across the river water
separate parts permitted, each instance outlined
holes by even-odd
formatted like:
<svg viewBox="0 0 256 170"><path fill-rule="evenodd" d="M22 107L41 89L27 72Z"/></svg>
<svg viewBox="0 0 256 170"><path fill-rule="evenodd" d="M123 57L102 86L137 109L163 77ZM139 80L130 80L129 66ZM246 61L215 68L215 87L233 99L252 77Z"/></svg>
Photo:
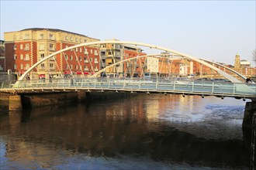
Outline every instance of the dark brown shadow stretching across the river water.
<svg viewBox="0 0 256 170"><path fill-rule="evenodd" d="M142 99L148 100L134 97L119 102L42 107L22 110L8 118L2 116L2 138L9 136L6 157L12 157L11 150L22 156L23 145L27 145L30 152L44 148L49 153L61 150L99 158L125 155L206 167L248 168L250 165L250 140L203 138L182 131L176 127L177 122L150 118ZM185 128L190 123L178 124Z"/></svg>

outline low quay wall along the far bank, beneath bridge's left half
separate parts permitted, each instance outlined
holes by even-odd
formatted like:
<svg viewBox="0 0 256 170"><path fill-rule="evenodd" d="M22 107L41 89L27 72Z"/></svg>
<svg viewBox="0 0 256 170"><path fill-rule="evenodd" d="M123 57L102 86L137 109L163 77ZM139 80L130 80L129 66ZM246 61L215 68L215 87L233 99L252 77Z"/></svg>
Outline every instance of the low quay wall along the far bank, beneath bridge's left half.
<svg viewBox="0 0 256 170"><path fill-rule="evenodd" d="M22 110L33 107L43 107L50 105L62 105L72 102L90 103L95 100L109 100L129 97L130 93L114 92L63 92L63 93L30 93L12 95L0 93L0 106L2 110Z"/></svg>

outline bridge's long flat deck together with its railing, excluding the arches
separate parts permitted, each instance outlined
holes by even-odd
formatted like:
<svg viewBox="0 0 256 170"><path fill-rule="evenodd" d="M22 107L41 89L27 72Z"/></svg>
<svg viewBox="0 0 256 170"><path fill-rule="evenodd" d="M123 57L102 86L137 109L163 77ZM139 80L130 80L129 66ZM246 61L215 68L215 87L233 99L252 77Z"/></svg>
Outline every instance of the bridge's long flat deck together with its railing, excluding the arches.
<svg viewBox="0 0 256 170"><path fill-rule="evenodd" d="M201 95L216 97L235 97L237 99L253 99L256 95L255 84L230 83L202 80L179 80L168 78L146 79L133 78L68 78L54 80L19 80L16 87L2 83L4 93L57 93L74 92L107 92L129 93L177 93L184 95Z"/></svg>

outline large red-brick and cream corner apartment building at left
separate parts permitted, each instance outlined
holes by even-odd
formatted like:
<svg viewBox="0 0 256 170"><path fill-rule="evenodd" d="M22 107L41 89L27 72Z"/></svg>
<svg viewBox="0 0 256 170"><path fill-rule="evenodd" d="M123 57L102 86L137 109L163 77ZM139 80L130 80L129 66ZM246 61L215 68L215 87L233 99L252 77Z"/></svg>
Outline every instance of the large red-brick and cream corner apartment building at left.
<svg viewBox="0 0 256 170"><path fill-rule="evenodd" d="M94 42L90 38L61 29L32 28L5 32L6 70L18 77L46 56L69 46ZM31 72L31 78L51 78L61 75L86 75L99 70L99 47L85 46L47 59ZM38 77L39 75L39 77ZM36 77L37 76L37 77Z"/></svg>

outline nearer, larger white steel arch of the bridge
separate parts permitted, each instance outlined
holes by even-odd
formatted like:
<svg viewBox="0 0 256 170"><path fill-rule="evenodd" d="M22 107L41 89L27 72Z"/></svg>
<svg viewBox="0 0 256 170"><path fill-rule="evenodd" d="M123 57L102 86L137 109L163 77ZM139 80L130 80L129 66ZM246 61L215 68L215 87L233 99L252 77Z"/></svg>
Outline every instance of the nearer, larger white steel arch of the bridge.
<svg viewBox="0 0 256 170"><path fill-rule="evenodd" d="M201 63L202 65L208 66L209 68L211 68L213 70L216 70L217 73L220 73L222 76L226 77L231 82L241 83L240 80L237 80L234 76L231 76L228 73L225 73L223 70L220 70L220 69L216 68L215 66L212 66L211 64L206 63L206 61L203 61L202 59L195 58L194 56L189 56L185 53L180 53L180 52L177 52L173 49L167 49L167 48L164 48L164 47L161 47L161 46L154 46L154 45L147 44L147 43L129 42L129 41L116 41L116 40L106 40L106 41L98 41L98 42L85 42L85 43L81 43L81 44L78 44L78 45L75 45L75 46L67 47L65 49L61 49L61 50L59 50L55 53L50 54L49 56L46 56L45 58L43 58L40 61L38 61L37 63L35 63L33 66L31 66L29 68L29 70L26 70L26 72L24 74L22 74L22 76L19 78L19 80L24 80L26 78L26 75L28 73L30 73L36 66L38 66L40 63L43 63L45 60L50 59L53 56L56 56L59 53L63 53L64 51L74 49L74 48L77 48L77 47L81 47L81 46L101 45L101 44L107 44L107 43L110 43L110 44L130 44L130 45L135 45L135 46L145 46L145 47L149 47L149 48L153 48L153 49L160 49L160 50L163 50L167 53L173 53L173 54L176 54L178 56L183 56L185 58L195 60L196 62ZM17 81L16 83L19 83L19 81Z"/></svg>

